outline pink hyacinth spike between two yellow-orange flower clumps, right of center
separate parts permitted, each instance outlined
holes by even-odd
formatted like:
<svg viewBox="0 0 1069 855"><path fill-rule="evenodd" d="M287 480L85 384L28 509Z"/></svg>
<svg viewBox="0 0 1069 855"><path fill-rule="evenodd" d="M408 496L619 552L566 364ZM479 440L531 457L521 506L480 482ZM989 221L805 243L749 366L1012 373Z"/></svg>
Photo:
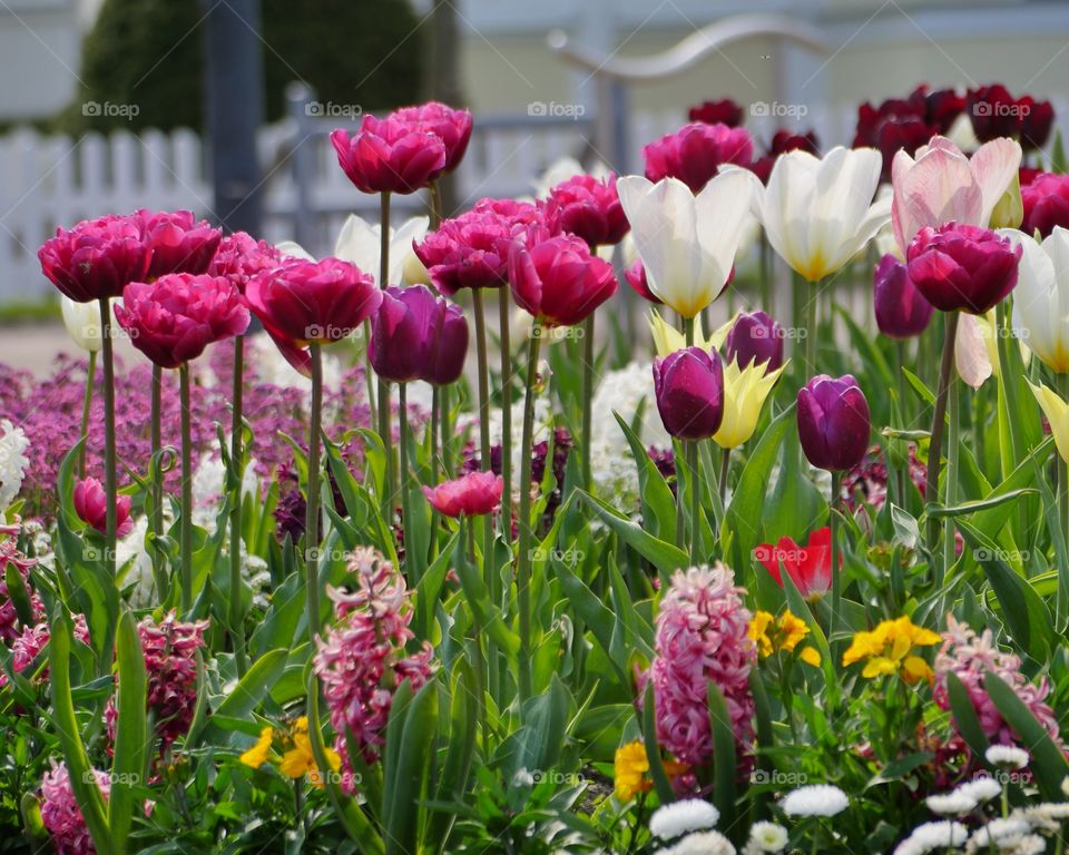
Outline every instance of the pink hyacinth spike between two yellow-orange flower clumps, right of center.
<svg viewBox="0 0 1069 855"><path fill-rule="evenodd" d="M720 563L677 570L657 616L657 656L640 680L653 682L657 740L676 759L704 766L713 759L707 686L724 692L735 740L743 751L753 741L754 699L749 669L757 661L746 635L751 613Z"/></svg>

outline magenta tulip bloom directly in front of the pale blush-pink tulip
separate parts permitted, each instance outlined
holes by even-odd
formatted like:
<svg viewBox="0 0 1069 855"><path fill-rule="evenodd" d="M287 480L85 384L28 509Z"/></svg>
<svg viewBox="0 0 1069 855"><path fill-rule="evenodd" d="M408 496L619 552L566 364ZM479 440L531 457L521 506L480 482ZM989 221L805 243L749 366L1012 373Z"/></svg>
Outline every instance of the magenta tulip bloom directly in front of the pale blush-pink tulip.
<svg viewBox="0 0 1069 855"><path fill-rule="evenodd" d="M910 244L910 279L935 308L982 315L1013 291L1021 252L979 226L926 226Z"/></svg>

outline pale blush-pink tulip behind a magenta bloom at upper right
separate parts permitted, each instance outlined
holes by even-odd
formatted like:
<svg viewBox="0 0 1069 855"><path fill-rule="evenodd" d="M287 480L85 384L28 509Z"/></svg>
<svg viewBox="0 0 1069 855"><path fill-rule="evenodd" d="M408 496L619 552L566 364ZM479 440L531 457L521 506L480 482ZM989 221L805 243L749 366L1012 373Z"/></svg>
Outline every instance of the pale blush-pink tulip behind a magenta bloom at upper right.
<svg viewBox="0 0 1069 855"><path fill-rule="evenodd" d="M891 223L902 255L925 226L987 226L1020 165L1021 147L1012 139L987 142L971 158L945 137L932 137L915 160L899 151L891 168Z"/></svg>

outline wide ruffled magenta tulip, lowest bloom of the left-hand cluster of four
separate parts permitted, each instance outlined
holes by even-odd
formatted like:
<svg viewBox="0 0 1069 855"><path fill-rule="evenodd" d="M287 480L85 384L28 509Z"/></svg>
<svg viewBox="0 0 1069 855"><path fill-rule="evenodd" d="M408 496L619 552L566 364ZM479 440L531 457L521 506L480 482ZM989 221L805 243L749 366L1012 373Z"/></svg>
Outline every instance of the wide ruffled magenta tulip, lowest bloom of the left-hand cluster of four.
<svg viewBox="0 0 1069 855"><path fill-rule="evenodd" d="M213 342L248 328L241 292L222 276L171 273L153 284L131 282L115 317L155 364L177 368Z"/></svg>

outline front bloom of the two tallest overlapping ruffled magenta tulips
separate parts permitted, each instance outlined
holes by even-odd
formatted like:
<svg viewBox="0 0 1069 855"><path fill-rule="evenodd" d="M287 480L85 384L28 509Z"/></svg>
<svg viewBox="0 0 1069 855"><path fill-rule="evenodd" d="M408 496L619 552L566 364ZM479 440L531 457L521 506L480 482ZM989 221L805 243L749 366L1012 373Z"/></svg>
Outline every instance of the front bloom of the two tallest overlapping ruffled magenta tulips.
<svg viewBox="0 0 1069 855"><path fill-rule="evenodd" d="M365 116L355 137L331 134L337 163L363 193L415 193L445 168L445 144L395 118Z"/></svg>

